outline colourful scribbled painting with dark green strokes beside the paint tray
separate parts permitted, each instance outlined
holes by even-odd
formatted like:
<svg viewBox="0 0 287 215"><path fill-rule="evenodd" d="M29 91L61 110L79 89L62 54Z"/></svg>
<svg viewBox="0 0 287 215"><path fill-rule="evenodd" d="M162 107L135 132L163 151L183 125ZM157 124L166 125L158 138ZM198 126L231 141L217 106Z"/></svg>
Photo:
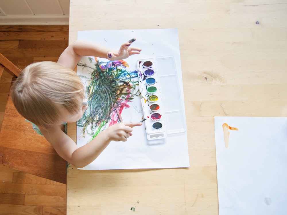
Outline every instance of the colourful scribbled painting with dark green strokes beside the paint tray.
<svg viewBox="0 0 287 215"><path fill-rule="evenodd" d="M94 68L78 63L83 70L87 68L92 72L90 77L82 76L86 78L88 109L77 126L83 128L83 136L88 133L92 139L106 126L122 122L123 109L129 108L128 102L140 95L137 70L128 71L129 65L123 60L100 62L95 59Z"/></svg>

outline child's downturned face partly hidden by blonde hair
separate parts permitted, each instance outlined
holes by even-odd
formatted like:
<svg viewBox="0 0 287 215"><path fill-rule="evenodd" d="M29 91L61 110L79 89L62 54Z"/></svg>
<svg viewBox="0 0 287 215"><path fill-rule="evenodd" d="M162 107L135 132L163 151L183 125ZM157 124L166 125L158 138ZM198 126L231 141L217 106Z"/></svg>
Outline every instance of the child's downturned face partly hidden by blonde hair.
<svg viewBox="0 0 287 215"><path fill-rule="evenodd" d="M85 98L83 100L78 99L78 101L81 105L77 113L72 114L69 113L69 111L67 111L65 108L61 108L60 112L63 116L61 117L61 122L73 123L82 118L82 115L88 109L88 103L86 102Z"/></svg>

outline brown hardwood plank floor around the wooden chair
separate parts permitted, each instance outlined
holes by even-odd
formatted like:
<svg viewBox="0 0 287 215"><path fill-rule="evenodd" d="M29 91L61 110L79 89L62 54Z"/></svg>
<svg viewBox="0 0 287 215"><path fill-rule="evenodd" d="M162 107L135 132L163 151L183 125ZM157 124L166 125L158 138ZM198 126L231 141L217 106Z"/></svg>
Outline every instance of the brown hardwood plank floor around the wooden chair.
<svg viewBox="0 0 287 215"><path fill-rule="evenodd" d="M21 69L36 61L57 61L68 46L68 26L0 26L0 53ZM0 129L12 76L0 80ZM66 214L66 185L1 164L0 215Z"/></svg>

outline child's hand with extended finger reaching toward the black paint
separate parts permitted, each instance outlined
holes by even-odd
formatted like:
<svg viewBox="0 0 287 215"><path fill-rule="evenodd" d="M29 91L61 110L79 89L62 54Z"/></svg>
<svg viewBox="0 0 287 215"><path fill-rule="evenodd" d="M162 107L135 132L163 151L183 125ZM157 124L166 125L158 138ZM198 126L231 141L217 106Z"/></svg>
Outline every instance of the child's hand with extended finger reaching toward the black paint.
<svg viewBox="0 0 287 215"><path fill-rule="evenodd" d="M142 122L125 122L125 123L117 123L108 127L104 132L106 133L106 137L110 141L127 141L132 135L133 127L142 125Z"/></svg>

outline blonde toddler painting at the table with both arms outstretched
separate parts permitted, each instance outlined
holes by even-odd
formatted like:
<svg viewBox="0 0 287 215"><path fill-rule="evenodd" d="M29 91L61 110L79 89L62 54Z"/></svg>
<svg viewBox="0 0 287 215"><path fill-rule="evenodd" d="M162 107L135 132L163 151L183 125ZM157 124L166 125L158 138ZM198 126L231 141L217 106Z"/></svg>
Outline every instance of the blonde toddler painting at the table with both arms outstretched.
<svg viewBox="0 0 287 215"><path fill-rule="evenodd" d="M35 124L56 152L75 167L90 164L111 141L127 141L132 127L142 122L117 123L78 147L65 133L66 123L81 119L88 107L84 85L73 69L82 56L115 61L139 54L141 49L130 47L134 41L131 39L114 51L94 42L77 40L65 49L57 63L46 61L28 65L11 87L17 111Z"/></svg>

